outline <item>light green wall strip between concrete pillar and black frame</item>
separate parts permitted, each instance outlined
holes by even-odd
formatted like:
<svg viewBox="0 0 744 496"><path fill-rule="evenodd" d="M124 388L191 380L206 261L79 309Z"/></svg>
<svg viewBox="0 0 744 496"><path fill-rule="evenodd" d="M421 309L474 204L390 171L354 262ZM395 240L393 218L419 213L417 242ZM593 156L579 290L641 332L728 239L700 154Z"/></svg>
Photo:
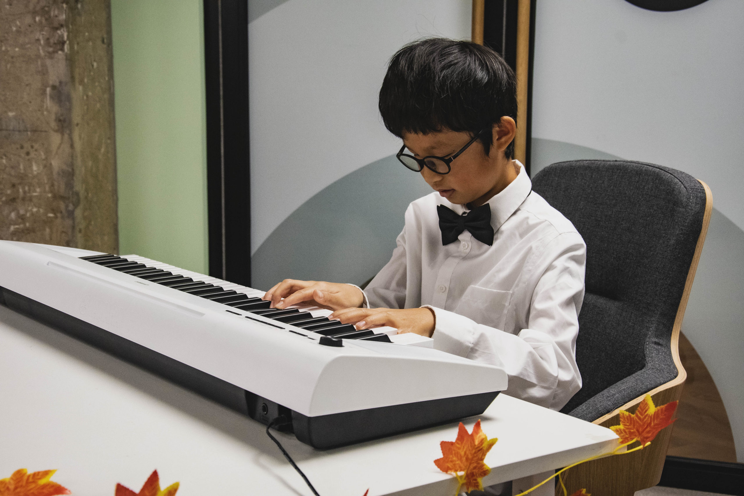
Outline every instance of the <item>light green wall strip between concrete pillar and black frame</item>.
<svg viewBox="0 0 744 496"><path fill-rule="evenodd" d="M121 254L207 272L202 0L112 0Z"/></svg>

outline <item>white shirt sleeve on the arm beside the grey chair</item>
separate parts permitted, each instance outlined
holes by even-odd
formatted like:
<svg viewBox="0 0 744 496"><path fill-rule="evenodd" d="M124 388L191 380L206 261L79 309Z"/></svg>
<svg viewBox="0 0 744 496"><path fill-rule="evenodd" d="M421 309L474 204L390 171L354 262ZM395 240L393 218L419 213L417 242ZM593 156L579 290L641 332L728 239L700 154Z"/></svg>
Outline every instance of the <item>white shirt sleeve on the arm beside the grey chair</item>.
<svg viewBox="0 0 744 496"><path fill-rule="evenodd" d="M559 234L536 264L542 271L530 300L527 328L517 335L443 309L436 314L434 348L499 367L504 393L560 410L581 389L576 364L578 315L584 297L586 245L578 233Z"/></svg>

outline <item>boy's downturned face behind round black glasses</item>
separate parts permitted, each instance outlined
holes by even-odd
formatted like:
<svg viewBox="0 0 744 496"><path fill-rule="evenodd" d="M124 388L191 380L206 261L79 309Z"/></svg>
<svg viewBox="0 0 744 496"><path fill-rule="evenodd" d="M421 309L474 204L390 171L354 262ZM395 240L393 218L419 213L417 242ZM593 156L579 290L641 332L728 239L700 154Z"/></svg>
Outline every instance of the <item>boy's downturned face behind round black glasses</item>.
<svg viewBox="0 0 744 496"><path fill-rule="evenodd" d="M424 181L441 196L455 204L472 204L479 207L516 178L518 169L504 156L500 144L504 136L493 132L494 144L490 155L484 152L481 141L475 141L450 164L449 174L437 174L424 167L421 171ZM501 139L499 139L501 138ZM440 131L428 135L405 133L403 143L416 158L427 155L448 158L455 155L472 136L467 132ZM509 140L511 141L511 140ZM507 143L508 144L508 143ZM505 148L505 146L504 146Z"/></svg>

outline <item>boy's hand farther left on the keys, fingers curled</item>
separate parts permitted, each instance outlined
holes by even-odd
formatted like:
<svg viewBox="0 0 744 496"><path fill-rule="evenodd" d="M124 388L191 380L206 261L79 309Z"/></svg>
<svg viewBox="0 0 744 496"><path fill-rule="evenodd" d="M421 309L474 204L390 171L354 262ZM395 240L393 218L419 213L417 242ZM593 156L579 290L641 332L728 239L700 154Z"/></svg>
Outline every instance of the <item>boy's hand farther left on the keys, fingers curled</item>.
<svg viewBox="0 0 744 496"><path fill-rule="evenodd" d="M263 300L271 300L272 309L310 303L324 309L341 310L362 306L365 297L359 288L350 284L285 279L269 289Z"/></svg>

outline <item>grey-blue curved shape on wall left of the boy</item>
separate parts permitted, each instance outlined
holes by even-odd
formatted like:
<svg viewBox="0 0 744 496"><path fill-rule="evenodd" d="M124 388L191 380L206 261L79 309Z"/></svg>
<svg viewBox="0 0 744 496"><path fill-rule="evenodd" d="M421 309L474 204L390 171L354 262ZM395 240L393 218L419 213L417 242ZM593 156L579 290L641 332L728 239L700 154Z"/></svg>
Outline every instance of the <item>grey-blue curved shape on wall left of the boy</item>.
<svg viewBox="0 0 744 496"><path fill-rule="evenodd" d="M251 257L251 285L286 278L361 285L390 260L404 213L432 193L390 155L325 187L301 204Z"/></svg>

